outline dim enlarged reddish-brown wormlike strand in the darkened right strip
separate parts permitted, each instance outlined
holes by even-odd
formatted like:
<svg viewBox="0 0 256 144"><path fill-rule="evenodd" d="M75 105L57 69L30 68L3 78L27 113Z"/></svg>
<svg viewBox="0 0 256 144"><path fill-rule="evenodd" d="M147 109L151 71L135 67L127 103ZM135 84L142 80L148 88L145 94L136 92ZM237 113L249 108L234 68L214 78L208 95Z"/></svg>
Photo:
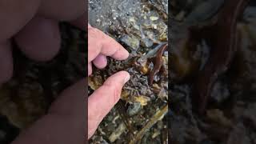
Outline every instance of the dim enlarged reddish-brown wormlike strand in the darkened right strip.
<svg viewBox="0 0 256 144"><path fill-rule="evenodd" d="M194 85L194 107L200 114L205 112L214 82L220 74L227 70L234 57L238 47L237 21L249 2L250 0L225 1L218 14L218 21L214 26L204 30L207 34L206 41L211 46L211 53Z"/></svg>

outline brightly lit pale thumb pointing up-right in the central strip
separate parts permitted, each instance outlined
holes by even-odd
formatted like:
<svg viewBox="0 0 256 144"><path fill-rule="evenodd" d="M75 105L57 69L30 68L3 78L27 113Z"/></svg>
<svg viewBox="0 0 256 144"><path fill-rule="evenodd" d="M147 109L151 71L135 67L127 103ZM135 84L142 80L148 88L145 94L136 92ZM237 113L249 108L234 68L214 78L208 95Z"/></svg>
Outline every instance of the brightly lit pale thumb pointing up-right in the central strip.
<svg viewBox="0 0 256 144"><path fill-rule="evenodd" d="M94 91L94 94L90 95L88 98L88 138L94 134L99 123L118 102L122 86L129 79L129 73L120 71L108 78L98 90Z"/></svg>

